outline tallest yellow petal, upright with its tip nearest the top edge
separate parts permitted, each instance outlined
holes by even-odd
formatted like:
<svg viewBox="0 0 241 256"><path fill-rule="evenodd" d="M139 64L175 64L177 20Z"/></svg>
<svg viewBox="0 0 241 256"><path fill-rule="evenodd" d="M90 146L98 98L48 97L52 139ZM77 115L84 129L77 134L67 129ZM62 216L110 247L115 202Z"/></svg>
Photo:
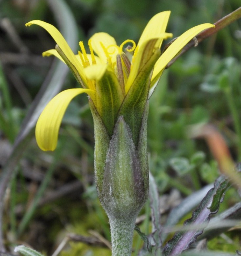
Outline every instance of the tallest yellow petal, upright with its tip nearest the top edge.
<svg viewBox="0 0 241 256"><path fill-rule="evenodd" d="M143 30L137 45L141 45L146 40L157 38L160 34L164 33L166 31L170 13L170 11L165 11L153 16ZM161 43L162 40L160 41L158 47L160 47Z"/></svg>

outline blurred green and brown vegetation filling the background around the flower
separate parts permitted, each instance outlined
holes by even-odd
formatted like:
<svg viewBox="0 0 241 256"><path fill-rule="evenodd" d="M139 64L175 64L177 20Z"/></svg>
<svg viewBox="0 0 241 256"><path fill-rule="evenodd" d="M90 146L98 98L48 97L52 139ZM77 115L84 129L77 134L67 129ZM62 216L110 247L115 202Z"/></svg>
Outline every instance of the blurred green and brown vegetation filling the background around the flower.
<svg viewBox="0 0 241 256"><path fill-rule="evenodd" d="M100 31L112 35L118 44L126 39L138 42L148 20L165 10L171 10L167 32L177 37L195 25L214 23L239 8L240 0L65 2L67 5L61 7L58 0L0 0L1 167L11 156L16 138L21 138L30 124L30 139L18 149L21 158L5 196L3 234L7 248L28 244L48 255L67 233L91 236L104 241L104 245L96 247L70 239L61 255L110 255L106 247L110 240L108 219L94 185L94 133L87 98L80 96L71 102L60 128L56 152L38 149L31 123L36 119L30 117L31 113L39 114L36 107L41 109L47 103L39 100L44 94L40 88L56 94L78 84L58 60L41 57L43 51L55 47L47 32L37 26L26 28L24 24L41 19L55 25L77 52L80 40L87 44L88 38ZM214 125L224 136L234 161L241 160L240 62L241 20L238 20L179 58L164 72L150 100L149 165L163 195L160 197L163 222L170 209L183 198L214 182L219 175L217 162L205 140L189 136L191 125ZM51 79L61 69L66 75L55 88ZM220 212L239 200L236 189L230 188ZM149 212L147 204L141 216ZM148 218L142 217L140 227L148 233ZM241 250L240 240L240 230L236 227L209 241L207 246L234 252ZM141 246L135 234L134 247Z"/></svg>

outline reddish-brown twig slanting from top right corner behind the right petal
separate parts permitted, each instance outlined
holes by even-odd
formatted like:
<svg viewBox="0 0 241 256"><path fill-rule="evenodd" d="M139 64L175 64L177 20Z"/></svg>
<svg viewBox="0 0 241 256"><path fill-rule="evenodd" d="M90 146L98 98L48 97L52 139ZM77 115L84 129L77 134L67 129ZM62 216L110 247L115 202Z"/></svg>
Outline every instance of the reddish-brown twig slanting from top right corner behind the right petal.
<svg viewBox="0 0 241 256"><path fill-rule="evenodd" d="M201 33L199 33L196 36L196 39L198 41L198 43L202 42L205 38L208 38L212 35L214 35L215 33L217 33L219 30L227 27L229 24L231 24L232 22L234 22L235 20L241 18L241 7L239 7L238 9L236 9L235 11L233 11L232 13L224 16L223 18L221 18L220 20L218 20L217 22L214 23L215 28L208 28L204 31L202 31ZM186 46L183 47L182 51L180 52L180 54L178 56L176 56L174 59L172 59L166 66L166 69L168 69L182 54L184 54L185 52L187 52L190 48L192 48L193 46L195 46L196 41L195 40L191 40L188 44L186 44Z"/></svg>

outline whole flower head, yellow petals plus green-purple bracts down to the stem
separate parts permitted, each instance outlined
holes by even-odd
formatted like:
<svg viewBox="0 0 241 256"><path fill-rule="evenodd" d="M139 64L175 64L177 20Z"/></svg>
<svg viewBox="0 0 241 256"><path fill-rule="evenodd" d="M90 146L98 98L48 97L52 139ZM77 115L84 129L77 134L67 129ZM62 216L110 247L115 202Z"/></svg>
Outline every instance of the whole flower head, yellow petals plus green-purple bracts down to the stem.
<svg viewBox="0 0 241 256"><path fill-rule="evenodd" d="M196 34L213 26L206 23L187 30L161 54L162 41L172 36L165 32L169 15L167 11L152 17L137 45L133 40L117 45L101 32L89 39L89 53L81 41L77 55L51 24L40 20L26 24L50 33L57 45L43 55L55 55L68 65L82 87L62 91L46 105L36 124L37 144L42 150L54 150L69 102L88 94L95 132L95 182L110 220L134 220L148 197L148 99L163 70Z"/></svg>

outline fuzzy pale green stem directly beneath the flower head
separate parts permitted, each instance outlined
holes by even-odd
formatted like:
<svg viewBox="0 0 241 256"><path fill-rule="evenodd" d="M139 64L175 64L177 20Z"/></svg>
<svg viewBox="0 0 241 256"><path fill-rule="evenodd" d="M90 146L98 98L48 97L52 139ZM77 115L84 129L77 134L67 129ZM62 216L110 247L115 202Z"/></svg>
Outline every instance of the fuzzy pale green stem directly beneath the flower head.
<svg viewBox="0 0 241 256"><path fill-rule="evenodd" d="M109 218L112 256L131 256L135 218Z"/></svg>

